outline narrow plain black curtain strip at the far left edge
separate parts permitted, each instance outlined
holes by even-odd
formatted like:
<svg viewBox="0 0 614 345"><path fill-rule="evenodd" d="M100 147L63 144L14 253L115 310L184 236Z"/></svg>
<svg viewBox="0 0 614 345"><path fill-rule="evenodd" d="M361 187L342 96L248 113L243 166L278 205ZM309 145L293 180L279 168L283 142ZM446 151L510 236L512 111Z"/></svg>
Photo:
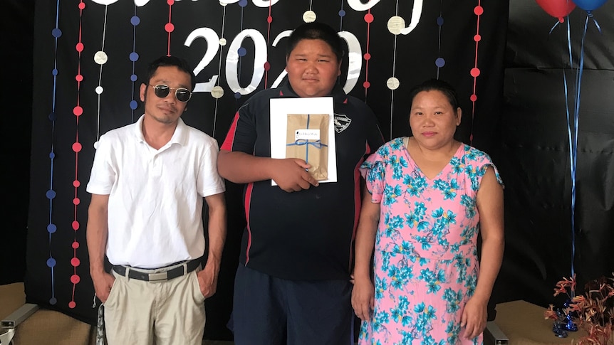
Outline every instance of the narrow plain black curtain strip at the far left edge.
<svg viewBox="0 0 614 345"><path fill-rule="evenodd" d="M2 163L0 285L5 285L23 282L26 272L34 1L2 1L0 8L4 14L0 42L6 64L0 94L4 105L1 123L7 144Z"/></svg>

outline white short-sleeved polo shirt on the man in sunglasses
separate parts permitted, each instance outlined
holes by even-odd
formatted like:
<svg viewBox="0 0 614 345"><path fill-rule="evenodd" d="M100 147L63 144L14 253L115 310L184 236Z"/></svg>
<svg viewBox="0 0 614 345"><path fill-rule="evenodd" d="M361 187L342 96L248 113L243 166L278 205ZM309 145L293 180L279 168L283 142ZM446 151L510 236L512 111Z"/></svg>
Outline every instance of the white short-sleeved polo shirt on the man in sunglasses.
<svg viewBox="0 0 614 345"><path fill-rule="evenodd" d="M135 124L98 141L87 191L109 195L106 254L113 265L155 268L204 254L203 197L225 190L217 141L181 118L159 150Z"/></svg>

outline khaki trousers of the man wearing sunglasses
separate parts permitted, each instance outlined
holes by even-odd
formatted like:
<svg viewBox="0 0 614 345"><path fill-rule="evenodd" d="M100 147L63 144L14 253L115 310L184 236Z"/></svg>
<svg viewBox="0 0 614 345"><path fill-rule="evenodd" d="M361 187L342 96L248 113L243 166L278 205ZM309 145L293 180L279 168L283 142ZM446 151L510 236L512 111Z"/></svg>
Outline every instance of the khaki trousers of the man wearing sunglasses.
<svg viewBox="0 0 614 345"><path fill-rule="evenodd" d="M204 297L197 270L172 280L145 282L113 271L105 302L109 345L201 345Z"/></svg>

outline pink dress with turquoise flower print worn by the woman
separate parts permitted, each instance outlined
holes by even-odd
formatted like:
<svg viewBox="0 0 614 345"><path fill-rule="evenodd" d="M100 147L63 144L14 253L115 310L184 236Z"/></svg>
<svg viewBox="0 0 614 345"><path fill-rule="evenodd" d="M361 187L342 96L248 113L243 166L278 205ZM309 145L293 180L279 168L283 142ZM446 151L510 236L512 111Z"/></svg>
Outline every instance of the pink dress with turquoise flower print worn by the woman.
<svg viewBox="0 0 614 345"><path fill-rule="evenodd" d="M358 344L482 344L460 326L477 283L479 213L476 195L490 157L461 144L449 164L428 179L393 139L360 172L380 203L375 235L375 309Z"/></svg>

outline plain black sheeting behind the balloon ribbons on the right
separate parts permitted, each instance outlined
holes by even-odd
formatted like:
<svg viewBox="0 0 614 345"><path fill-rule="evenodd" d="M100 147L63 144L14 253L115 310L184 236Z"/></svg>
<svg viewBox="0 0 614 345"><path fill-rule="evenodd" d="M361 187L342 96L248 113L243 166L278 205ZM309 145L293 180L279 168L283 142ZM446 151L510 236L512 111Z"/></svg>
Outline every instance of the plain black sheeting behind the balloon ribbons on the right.
<svg viewBox="0 0 614 345"><path fill-rule="evenodd" d="M498 156L506 182L507 236L498 287L514 289L522 299L536 304L553 302L555 283L570 277L572 270L578 275L580 291L586 281L614 271L613 18L614 1L607 1L593 11L582 43L586 11L574 9L565 23L549 33L556 18L548 16L535 1L510 3ZM581 56L582 70L578 65ZM566 80L573 113L573 89L579 72L572 231L564 95ZM573 121L573 114L570 116ZM560 299L555 302L563 303Z"/></svg>

